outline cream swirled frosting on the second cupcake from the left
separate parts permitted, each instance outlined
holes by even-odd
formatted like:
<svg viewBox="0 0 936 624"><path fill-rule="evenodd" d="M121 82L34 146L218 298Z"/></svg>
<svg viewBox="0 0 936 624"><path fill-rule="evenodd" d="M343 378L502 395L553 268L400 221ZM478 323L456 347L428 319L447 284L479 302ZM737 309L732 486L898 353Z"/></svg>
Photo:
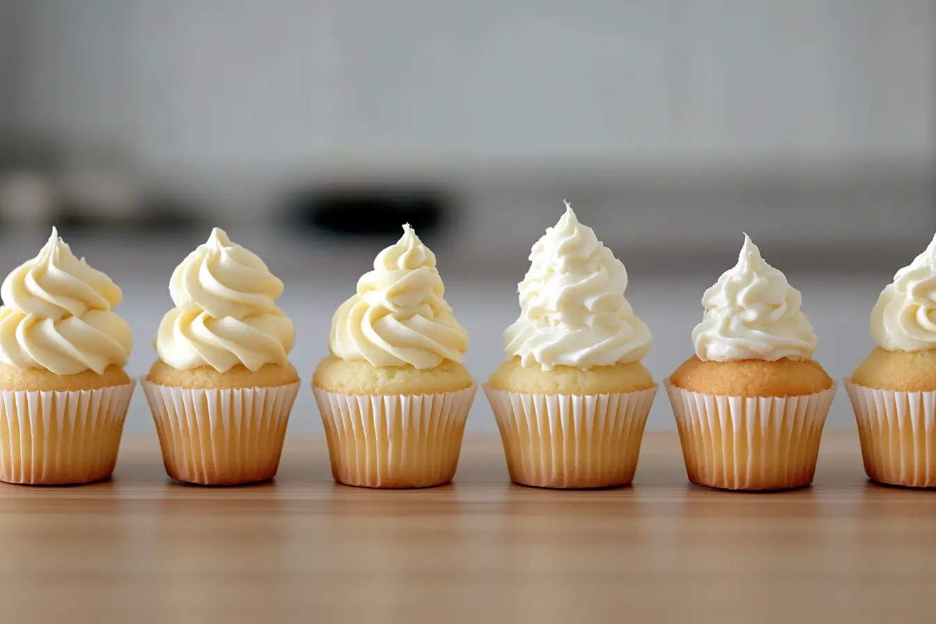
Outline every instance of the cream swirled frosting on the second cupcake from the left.
<svg viewBox="0 0 936 624"><path fill-rule="evenodd" d="M263 260L215 227L172 271L176 307L159 324L156 352L176 370L285 364L296 335L276 307L282 293L283 283Z"/></svg>

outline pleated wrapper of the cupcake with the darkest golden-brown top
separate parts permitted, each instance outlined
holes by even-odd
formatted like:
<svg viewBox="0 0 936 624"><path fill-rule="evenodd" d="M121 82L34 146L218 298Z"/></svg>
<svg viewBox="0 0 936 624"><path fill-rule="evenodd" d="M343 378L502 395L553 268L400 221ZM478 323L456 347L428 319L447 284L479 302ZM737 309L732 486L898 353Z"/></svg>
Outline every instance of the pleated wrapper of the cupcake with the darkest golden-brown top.
<svg viewBox="0 0 936 624"><path fill-rule="evenodd" d="M835 385L799 397L727 397L670 385L689 480L724 489L808 486Z"/></svg>

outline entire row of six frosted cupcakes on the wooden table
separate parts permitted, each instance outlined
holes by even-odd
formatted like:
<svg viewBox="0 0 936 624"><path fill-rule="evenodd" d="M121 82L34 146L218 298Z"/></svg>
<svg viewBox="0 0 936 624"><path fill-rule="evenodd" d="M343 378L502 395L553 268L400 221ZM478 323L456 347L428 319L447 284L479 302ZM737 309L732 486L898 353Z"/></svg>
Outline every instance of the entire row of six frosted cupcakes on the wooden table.
<svg viewBox="0 0 936 624"><path fill-rule="evenodd" d="M454 475L476 385L468 336L435 257L408 225L335 312L313 390L335 479L418 487ZM519 283L520 316L485 391L513 481L620 486L634 477L657 385L651 333L627 272L571 207ZM289 363L283 283L220 229L172 274L175 307L141 380L168 475L197 484L271 478L300 378ZM120 289L53 230L13 270L0 308L0 480L110 476L135 382ZM936 486L936 239L881 294L881 345L846 388L870 478ZM731 489L811 483L835 384L812 360L800 296L745 237L738 264L703 297L695 356L665 380L689 479Z"/></svg>

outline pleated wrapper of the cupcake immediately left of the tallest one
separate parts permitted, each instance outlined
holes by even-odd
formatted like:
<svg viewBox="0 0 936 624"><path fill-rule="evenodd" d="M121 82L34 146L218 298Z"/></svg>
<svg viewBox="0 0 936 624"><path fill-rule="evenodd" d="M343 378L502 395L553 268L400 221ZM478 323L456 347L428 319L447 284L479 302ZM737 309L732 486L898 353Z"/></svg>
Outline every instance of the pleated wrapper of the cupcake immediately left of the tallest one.
<svg viewBox="0 0 936 624"><path fill-rule="evenodd" d="M348 486L451 481L477 386L431 395L345 395L313 386L331 473Z"/></svg>

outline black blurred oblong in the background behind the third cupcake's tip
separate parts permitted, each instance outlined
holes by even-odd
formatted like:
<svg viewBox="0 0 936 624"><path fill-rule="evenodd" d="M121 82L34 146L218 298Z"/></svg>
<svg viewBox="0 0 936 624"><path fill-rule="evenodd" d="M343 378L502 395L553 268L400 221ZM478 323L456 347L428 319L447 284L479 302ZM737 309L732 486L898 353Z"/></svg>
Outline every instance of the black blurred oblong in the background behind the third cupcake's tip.
<svg viewBox="0 0 936 624"><path fill-rule="evenodd" d="M349 237L392 237L403 224L431 236L452 210L446 194L403 186L331 186L297 193L287 202L287 225Z"/></svg>

